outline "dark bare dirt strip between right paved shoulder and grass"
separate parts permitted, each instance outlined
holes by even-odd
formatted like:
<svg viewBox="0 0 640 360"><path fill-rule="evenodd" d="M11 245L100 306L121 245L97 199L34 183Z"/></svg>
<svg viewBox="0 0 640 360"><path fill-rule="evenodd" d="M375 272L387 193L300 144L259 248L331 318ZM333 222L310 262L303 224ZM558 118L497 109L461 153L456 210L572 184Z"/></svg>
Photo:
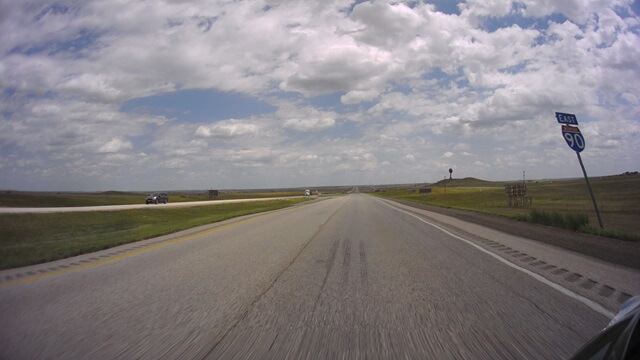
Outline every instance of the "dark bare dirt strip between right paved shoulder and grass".
<svg viewBox="0 0 640 360"><path fill-rule="evenodd" d="M406 200L393 199L393 201L448 215L470 223L483 225L507 234L552 244L614 264L640 269L640 242L616 240L472 211L442 208Z"/></svg>

